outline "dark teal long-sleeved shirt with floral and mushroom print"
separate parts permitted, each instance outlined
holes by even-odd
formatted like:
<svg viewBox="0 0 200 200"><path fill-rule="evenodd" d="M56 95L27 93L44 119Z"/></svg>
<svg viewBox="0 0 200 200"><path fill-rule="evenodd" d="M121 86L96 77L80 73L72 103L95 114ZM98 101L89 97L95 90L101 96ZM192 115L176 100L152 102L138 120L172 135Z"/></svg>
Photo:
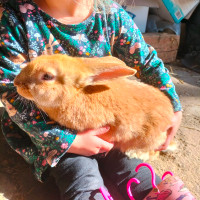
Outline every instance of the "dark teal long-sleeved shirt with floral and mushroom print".
<svg viewBox="0 0 200 200"><path fill-rule="evenodd" d="M51 123L32 102L20 97L13 79L26 62L42 54L102 57L113 55L137 69L143 82L160 88L174 111L181 110L168 70L145 43L131 17L116 3L109 11L93 12L80 24L65 25L32 0L9 0L0 24L0 97L6 111L3 134L9 145L33 166L38 180L67 152L76 130ZM134 122L133 122L134 123Z"/></svg>

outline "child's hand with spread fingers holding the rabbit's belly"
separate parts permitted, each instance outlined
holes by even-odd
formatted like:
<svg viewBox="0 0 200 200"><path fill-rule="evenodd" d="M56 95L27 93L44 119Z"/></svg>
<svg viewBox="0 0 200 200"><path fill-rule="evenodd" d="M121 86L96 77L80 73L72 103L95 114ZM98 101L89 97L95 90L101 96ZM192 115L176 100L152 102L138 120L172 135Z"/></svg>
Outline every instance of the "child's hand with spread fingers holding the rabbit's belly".
<svg viewBox="0 0 200 200"><path fill-rule="evenodd" d="M109 126L105 126L97 130L87 130L78 133L68 153L92 156L110 151L113 148L113 144L98 137L98 135L108 132L109 129Z"/></svg>

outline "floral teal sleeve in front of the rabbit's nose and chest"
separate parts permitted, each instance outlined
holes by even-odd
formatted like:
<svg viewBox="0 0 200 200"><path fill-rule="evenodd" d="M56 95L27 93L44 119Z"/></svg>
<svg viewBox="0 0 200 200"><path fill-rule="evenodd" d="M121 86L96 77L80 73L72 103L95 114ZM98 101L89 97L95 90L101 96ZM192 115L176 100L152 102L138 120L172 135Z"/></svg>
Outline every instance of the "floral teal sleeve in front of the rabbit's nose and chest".
<svg viewBox="0 0 200 200"><path fill-rule="evenodd" d="M29 163L37 158L42 159L37 162L43 166L53 166L69 149L76 131L52 123L32 102L17 94L13 80L28 60L26 38L17 17L4 11L0 22L0 99L6 109L3 132L10 146Z"/></svg>

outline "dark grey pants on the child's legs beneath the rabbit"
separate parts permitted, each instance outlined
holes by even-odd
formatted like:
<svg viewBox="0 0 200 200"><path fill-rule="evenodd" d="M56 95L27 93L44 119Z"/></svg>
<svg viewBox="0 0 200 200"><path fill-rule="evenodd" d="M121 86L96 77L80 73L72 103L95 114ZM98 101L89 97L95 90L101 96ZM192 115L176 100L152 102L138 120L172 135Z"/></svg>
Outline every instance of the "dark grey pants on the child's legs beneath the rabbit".
<svg viewBox="0 0 200 200"><path fill-rule="evenodd" d="M152 184L148 168L142 167L135 172L140 163L142 160L129 159L117 149L111 150L105 157L84 157L66 153L57 166L51 169L51 174L55 178L62 200L104 200L99 191L101 186L106 188L103 177L109 179L124 200L129 200L126 191L129 179L139 179L140 184L132 183L131 189L134 198L142 200L152 190ZM158 176L156 182L161 182Z"/></svg>

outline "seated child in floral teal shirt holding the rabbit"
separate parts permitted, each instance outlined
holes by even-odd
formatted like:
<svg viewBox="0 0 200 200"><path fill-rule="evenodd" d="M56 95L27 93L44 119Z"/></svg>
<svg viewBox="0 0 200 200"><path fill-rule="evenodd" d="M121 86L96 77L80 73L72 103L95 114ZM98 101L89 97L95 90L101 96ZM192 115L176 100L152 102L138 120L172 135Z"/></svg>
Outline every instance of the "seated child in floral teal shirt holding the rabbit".
<svg viewBox="0 0 200 200"><path fill-rule="evenodd" d="M135 199L143 199L152 189L150 173L147 169L134 173L142 161L111 150L113 144L98 137L109 126L77 133L52 124L34 104L17 95L13 79L26 62L42 54L119 57L138 70L138 78L159 87L171 99L175 115L167 140L159 148L162 150L174 137L182 112L174 84L155 50L113 1L9 0L3 1L3 7L0 95L7 111L2 130L9 145L33 166L38 180L43 181L44 172L51 167L62 199L103 199L99 192L104 186L100 171L118 187L124 199L128 199L127 181L137 177L141 183L133 184L133 194ZM108 153L103 156L103 152Z"/></svg>

